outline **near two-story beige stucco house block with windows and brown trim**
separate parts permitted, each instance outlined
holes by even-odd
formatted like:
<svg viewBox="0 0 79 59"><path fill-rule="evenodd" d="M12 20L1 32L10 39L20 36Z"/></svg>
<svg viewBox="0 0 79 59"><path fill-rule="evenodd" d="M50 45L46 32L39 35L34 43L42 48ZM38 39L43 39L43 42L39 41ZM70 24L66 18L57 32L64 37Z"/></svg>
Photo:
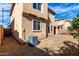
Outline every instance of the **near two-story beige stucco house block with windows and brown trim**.
<svg viewBox="0 0 79 59"><path fill-rule="evenodd" d="M21 43L30 35L46 38L47 3L13 3L10 17L13 36Z"/></svg>

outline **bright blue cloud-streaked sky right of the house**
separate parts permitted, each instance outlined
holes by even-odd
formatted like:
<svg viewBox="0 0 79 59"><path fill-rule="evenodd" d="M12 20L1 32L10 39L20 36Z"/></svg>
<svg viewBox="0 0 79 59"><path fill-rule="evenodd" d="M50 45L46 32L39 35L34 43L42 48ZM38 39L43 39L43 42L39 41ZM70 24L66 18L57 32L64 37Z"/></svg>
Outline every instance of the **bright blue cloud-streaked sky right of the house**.
<svg viewBox="0 0 79 59"><path fill-rule="evenodd" d="M49 8L56 12L56 19L69 19L71 20L79 14L79 3L49 3Z"/></svg>

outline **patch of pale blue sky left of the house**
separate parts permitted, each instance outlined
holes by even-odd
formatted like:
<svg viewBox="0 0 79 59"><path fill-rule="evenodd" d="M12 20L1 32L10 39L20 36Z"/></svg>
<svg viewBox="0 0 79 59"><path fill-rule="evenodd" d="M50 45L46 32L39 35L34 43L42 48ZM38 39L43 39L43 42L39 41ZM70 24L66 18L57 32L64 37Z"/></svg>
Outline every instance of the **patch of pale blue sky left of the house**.
<svg viewBox="0 0 79 59"><path fill-rule="evenodd" d="M2 8L4 8L4 17L2 17ZM4 27L7 27L10 23L10 8L11 4L10 3L0 3L0 25L2 24ZM3 23L2 23L3 20Z"/></svg>

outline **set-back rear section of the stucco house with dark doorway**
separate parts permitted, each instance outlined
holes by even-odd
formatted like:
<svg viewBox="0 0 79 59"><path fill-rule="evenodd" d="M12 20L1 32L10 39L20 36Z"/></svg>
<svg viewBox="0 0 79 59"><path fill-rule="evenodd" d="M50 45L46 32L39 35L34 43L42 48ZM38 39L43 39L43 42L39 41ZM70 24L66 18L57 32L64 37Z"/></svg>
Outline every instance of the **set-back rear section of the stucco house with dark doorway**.
<svg viewBox="0 0 79 59"><path fill-rule="evenodd" d="M48 8L48 35L57 34L57 24L55 22L55 12Z"/></svg>

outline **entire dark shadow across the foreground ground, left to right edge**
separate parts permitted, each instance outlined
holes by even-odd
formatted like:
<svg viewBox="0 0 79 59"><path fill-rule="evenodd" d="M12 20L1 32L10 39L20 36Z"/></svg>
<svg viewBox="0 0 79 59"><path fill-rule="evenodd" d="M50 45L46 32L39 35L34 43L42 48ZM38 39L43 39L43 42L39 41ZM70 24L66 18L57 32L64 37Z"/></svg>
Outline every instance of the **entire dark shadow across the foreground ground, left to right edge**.
<svg viewBox="0 0 79 59"><path fill-rule="evenodd" d="M5 37L2 47L0 47L0 55L5 56L79 56L79 45L64 41L64 46L59 50L53 51L49 48L39 49L28 45L19 44L13 37Z"/></svg>

